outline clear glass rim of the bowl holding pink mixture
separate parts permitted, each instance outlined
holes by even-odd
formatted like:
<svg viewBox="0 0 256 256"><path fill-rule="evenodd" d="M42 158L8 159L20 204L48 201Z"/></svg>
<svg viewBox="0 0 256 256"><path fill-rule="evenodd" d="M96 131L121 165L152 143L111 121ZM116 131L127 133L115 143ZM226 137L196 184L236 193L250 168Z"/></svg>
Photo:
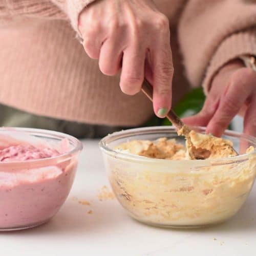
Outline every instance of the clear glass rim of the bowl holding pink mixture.
<svg viewBox="0 0 256 256"><path fill-rule="evenodd" d="M74 154L80 152L83 148L83 145L80 140L75 138L74 136L71 136L69 134L56 132L52 130L46 130L46 129L37 129L37 128L26 128L26 127L0 127L0 132L23 132L29 135L33 136L45 136L48 138L56 138L56 139L65 139L67 138L69 142L72 142L74 144L74 148L72 150L65 152L63 154L60 154L58 156L54 157L48 157L48 158L41 158L41 159L31 159L26 161L10 161L10 162L0 162L0 167L4 167L10 164L16 164L16 165L28 165L28 164L42 164L48 165L48 164L56 164L59 162L62 162L63 160L67 160L67 158L71 158ZM47 161L47 163L46 163Z"/></svg>

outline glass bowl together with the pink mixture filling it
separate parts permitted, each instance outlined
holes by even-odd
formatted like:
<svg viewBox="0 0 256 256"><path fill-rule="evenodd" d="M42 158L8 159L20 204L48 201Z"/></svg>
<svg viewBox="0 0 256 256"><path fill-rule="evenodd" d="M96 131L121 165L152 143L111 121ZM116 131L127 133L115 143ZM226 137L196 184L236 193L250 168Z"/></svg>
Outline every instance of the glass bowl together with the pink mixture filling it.
<svg viewBox="0 0 256 256"><path fill-rule="evenodd" d="M0 230L51 219L72 187L81 143L37 129L0 129Z"/></svg>

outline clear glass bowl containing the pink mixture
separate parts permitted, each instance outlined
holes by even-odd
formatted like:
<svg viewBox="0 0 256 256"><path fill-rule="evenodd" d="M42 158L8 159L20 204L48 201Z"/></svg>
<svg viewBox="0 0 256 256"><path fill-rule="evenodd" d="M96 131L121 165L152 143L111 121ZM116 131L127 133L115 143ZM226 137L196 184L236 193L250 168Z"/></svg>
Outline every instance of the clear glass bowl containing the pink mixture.
<svg viewBox="0 0 256 256"><path fill-rule="evenodd" d="M57 213L69 195L82 144L70 135L47 130L0 128L0 132L7 136L22 132L24 137L39 138L51 145L65 139L69 144L70 150L59 156L0 162L0 231L43 224Z"/></svg>

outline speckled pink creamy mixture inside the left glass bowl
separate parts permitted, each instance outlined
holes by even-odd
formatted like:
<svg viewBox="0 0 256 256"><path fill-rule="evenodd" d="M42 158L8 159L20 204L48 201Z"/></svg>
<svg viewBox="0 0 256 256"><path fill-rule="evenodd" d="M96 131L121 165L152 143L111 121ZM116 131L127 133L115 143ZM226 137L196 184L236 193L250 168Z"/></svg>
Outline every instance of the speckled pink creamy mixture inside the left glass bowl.
<svg viewBox="0 0 256 256"><path fill-rule="evenodd" d="M47 159L58 155L55 148L42 144L15 142L1 147L0 230L35 226L56 214L69 194L77 166L76 156L60 163ZM36 159L43 160L25 164Z"/></svg>

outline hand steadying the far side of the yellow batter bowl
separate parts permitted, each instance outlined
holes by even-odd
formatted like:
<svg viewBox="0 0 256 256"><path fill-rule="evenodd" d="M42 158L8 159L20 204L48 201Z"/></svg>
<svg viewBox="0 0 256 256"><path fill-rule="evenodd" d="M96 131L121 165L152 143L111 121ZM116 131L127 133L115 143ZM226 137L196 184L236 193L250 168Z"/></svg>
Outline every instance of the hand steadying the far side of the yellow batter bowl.
<svg viewBox="0 0 256 256"><path fill-rule="evenodd" d="M221 136L237 114L244 117L244 132L256 136L256 72L234 60L214 77L202 111L183 120Z"/></svg>

